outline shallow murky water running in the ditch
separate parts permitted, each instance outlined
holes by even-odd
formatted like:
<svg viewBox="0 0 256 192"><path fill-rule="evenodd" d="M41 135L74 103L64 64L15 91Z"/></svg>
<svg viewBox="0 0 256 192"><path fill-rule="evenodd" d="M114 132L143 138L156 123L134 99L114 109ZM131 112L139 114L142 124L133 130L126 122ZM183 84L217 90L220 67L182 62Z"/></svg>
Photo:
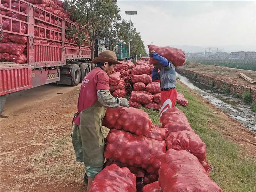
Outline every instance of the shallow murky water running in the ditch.
<svg viewBox="0 0 256 192"><path fill-rule="evenodd" d="M231 94L223 94L217 90L211 90L205 84L197 82L187 76L183 76L179 73L177 73L177 76L180 76L180 81L189 88L197 90L205 99L227 112L229 116L240 121L250 131L256 133L256 113L251 111L249 104L244 103L239 98L232 97Z"/></svg>

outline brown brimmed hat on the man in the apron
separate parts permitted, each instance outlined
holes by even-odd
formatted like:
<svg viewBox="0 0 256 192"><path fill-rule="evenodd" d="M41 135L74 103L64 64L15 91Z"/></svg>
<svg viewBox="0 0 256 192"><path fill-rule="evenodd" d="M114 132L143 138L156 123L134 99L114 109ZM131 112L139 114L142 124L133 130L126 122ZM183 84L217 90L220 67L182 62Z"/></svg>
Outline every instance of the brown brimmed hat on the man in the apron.
<svg viewBox="0 0 256 192"><path fill-rule="evenodd" d="M109 62L109 63L114 63L114 64L121 64L120 62L117 61L116 58L116 53L113 51L103 51L99 53L98 57L95 57L92 60L92 63L99 63L99 62Z"/></svg>

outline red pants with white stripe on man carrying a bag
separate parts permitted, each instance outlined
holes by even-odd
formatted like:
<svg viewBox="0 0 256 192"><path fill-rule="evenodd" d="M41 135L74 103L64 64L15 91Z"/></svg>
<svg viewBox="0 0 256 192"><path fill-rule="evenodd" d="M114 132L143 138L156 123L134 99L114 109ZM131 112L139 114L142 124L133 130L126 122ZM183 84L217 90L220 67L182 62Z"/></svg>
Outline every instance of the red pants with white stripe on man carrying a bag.
<svg viewBox="0 0 256 192"><path fill-rule="evenodd" d="M175 102L177 99L177 90L169 89L168 91L161 91L161 103L162 107L159 111L159 116L162 116L162 113L168 108L175 107ZM161 123L161 122L160 122Z"/></svg>

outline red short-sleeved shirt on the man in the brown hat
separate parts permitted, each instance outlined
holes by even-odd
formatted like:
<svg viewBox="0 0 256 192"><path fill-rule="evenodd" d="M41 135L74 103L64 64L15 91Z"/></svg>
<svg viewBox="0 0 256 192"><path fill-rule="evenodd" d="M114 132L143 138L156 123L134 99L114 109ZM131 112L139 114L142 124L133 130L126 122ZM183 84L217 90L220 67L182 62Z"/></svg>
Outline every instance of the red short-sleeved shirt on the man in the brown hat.
<svg viewBox="0 0 256 192"><path fill-rule="evenodd" d="M83 79L77 102L77 111L91 107L97 100L97 91L100 89L109 90L108 74L97 67L89 72ZM75 124L80 125L80 114L75 117Z"/></svg>

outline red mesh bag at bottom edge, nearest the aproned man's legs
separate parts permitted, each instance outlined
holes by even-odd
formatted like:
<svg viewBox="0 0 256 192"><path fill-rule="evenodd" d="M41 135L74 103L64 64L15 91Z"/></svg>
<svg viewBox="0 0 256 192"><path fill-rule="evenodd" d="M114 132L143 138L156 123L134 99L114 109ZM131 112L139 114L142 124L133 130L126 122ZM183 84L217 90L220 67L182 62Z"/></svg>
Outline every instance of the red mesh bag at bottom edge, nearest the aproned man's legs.
<svg viewBox="0 0 256 192"><path fill-rule="evenodd" d="M94 178L89 192L136 192L136 176L127 167L112 164L104 168Z"/></svg>

